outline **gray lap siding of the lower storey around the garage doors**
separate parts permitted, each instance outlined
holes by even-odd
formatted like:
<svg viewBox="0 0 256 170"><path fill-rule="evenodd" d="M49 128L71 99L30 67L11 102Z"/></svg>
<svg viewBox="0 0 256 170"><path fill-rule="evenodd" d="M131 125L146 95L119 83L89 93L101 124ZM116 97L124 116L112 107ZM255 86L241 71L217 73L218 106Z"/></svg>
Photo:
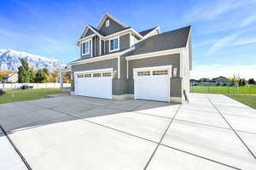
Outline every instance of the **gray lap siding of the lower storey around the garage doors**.
<svg viewBox="0 0 256 170"><path fill-rule="evenodd" d="M122 94L134 94L134 81L133 81L133 69L141 67L152 67L161 65L172 65L173 68L177 68L177 77L171 78L171 97L181 97L182 79L179 77L180 71L180 58L179 54L163 55L148 59L136 59L129 61L129 79L127 79L127 61L125 56L120 57L120 71L118 71L118 59L108 59L102 61L91 62L83 65L73 65L72 73L75 71L90 71L113 68L116 71L116 75L113 77L112 93L113 95ZM118 78L118 72L120 72L120 78ZM74 79L73 79L74 80ZM84 87L86 88L86 87ZM102 87L103 88L103 87ZM74 83L72 81L72 91L74 91Z"/></svg>

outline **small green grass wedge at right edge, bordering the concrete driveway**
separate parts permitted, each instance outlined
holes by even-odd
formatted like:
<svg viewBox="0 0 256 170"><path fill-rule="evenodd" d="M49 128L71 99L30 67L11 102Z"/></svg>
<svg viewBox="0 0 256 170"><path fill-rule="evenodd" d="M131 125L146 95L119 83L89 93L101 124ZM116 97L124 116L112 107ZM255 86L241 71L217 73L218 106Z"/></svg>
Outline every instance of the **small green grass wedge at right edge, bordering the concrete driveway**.
<svg viewBox="0 0 256 170"><path fill-rule="evenodd" d="M256 95L237 95L237 94L230 94L226 95L232 99L236 99L237 101L241 102L244 105L248 105L253 109L256 109Z"/></svg>

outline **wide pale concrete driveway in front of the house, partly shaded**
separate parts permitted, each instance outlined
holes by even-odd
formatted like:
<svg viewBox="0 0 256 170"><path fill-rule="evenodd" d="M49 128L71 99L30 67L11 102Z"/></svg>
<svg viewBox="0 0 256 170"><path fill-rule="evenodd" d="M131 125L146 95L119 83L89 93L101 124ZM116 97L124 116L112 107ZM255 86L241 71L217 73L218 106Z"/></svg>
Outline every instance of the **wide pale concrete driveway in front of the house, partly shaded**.
<svg viewBox="0 0 256 170"><path fill-rule="evenodd" d="M33 170L256 169L256 111L224 95L189 99L67 95L0 105L0 124Z"/></svg>

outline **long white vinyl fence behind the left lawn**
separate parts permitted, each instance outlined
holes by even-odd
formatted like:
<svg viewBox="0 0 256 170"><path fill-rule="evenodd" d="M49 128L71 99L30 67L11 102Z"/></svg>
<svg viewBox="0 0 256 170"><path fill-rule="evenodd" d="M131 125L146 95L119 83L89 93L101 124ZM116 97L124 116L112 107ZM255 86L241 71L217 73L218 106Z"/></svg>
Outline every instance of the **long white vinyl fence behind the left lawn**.
<svg viewBox="0 0 256 170"><path fill-rule="evenodd" d="M32 86L33 88L61 88L60 82L49 83L0 83L0 88L13 89L20 88L22 85ZM70 83L63 83L63 88L70 88Z"/></svg>

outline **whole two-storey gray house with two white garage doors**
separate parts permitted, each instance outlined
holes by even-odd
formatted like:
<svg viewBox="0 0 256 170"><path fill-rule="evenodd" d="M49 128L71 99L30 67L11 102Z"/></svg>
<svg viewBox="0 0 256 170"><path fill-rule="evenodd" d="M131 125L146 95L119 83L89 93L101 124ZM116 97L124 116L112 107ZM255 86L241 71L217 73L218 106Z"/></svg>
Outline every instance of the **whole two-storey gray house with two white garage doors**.
<svg viewBox="0 0 256 170"><path fill-rule="evenodd" d="M71 94L103 99L183 102L192 69L190 26L137 32L109 14L86 26L70 63Z"/></svg>

